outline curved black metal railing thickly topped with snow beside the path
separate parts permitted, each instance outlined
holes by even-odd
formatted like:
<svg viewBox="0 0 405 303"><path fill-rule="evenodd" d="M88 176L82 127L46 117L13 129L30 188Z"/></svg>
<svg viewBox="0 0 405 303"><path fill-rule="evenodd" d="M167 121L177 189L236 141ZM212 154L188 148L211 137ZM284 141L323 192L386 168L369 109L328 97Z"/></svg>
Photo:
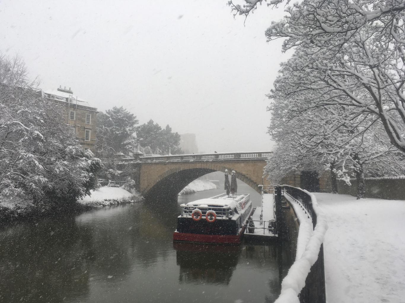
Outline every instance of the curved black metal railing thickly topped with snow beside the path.
<svg viewBox="0 0 405 303"><path fill-rule="evenodd" d="M300 220L298 242L301 240L303 247L299 253L297 247L296 260L281 282L281 294L275 303L325 303L325 269L322 243L326 229L328 229L326 219L313 194L288 185L281 186L281 190L283 196L294 208L298 220ZM308 224L305 224L305 220L308 220ZM302 240L306 243L303 243Z"/></svg>

